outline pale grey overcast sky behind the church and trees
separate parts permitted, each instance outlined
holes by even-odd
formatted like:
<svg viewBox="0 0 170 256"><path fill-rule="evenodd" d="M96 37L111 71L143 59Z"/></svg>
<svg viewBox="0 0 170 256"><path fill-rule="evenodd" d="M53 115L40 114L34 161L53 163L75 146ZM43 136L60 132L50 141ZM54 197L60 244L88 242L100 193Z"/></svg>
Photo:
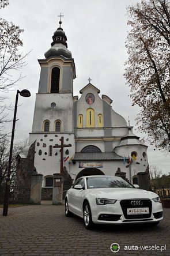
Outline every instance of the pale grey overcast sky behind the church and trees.
<svg viewBox="0 0 170 256"><path fill-rule="evenodd" d="M62 28L66 32L68 49L72 52L77 78L74 80L74 96L80 96L80 89L91 83L102 94L112 100L112 108L122 115L134 133L141 137L135 127L138 107L131 106L130 89L123 77L124 62L127 60L125 41L127 31L126 6L137 0L9 0L10 5L2 9L1 16L24 29L22 52L32 50L27 57L27 66L17 89L28 89L31 97L19 96L16 132L14 140L27 138L32 130L35 96L39 86L40 66L37 59L44 58L44 52L51 47L52 35L59 27L58 15L62 13ZM16 91L8 94L14 105ZM13 116L13 113L10 114ZM7 131L12 130L8 123ZM169 153L154 150L149 145L150 165L156 165L163 173L170 172Z"/></svg>

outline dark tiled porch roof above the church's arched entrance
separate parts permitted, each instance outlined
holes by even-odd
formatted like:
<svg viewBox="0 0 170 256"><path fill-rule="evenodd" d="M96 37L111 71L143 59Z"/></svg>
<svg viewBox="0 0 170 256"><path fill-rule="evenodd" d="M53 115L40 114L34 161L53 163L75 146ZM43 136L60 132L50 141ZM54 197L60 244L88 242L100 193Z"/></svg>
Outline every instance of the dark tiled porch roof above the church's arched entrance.
<svg viewBox="0 0 170 256"><path fill-rule="evenodd" d="M75 153L73 161L91 161L91 160L123 160L122 156L117 155L115 152L86 152Z"/></svg>

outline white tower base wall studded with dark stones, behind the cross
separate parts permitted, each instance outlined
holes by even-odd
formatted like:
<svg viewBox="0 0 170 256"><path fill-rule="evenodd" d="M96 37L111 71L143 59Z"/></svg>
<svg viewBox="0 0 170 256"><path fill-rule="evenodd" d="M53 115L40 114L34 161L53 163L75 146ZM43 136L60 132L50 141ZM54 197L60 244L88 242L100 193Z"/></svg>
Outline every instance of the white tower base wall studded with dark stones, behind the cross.
<svg viewBox="0 0 170 256"><path fill-rule="evenodd" d="M35 144L35 162L36 171L38 174L53 175L60 172L60 157L59 148L52 148L52 156L49 156L49 146L61 145L59 139L64 137L64 144L71 144L71 147L64 149L63 157L74 155L75 142L73 133L41 133L30 134L29 141L36 140ZM69 155L66 155L66 150L69 150ZM55 155L57 153L57 155Z"/></svg>

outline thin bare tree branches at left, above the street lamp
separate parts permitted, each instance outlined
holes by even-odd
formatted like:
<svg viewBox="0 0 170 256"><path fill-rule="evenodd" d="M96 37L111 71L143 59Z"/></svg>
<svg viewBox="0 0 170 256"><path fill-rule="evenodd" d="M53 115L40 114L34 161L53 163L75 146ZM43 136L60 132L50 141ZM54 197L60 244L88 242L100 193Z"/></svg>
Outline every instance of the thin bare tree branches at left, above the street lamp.
<svg viewBox="0 0 170 256"><path fill-rule="evenodd" d="M8 4L8 0L1 0L0 8ZM29 54L22 55L20 52L23 46L20 35L23 31L12 22L0 18L0 127L7 122L8 108L5 104L6 95L2 93L11 91L21 80L21 69L26 65L25 57Z"/></svg>

